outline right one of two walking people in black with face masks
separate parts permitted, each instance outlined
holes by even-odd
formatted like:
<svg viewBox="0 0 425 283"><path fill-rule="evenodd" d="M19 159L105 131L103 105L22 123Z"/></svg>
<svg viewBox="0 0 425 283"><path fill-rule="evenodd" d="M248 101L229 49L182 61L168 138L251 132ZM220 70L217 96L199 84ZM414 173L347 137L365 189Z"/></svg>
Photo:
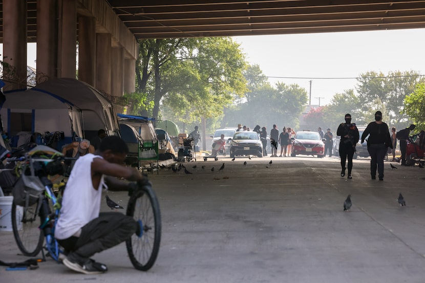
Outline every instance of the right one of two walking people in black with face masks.
<svg viewBox="0 0 425 283"><path fill-rule="evenodd" d="M388 147L393 148L388 125L382 122L381 111L376 111L375 122L369 123L362 134L362 144L365 138L368 142L368 152L370 154L370 175L372 180L376 179L376 167L378 168L379 181L384 181L384 158Z"/></svg>

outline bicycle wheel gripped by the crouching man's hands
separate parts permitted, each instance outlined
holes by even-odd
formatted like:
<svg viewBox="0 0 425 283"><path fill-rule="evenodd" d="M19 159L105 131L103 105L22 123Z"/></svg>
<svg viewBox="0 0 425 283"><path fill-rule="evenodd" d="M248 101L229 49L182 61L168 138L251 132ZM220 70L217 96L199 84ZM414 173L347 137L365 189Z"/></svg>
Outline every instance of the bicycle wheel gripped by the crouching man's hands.
<svg viewBox="0 0 425 283"><path fill-rule="evenodd" d="M157 197L150 186L143 186L130 197L127 215L142 228L126 241L127 252L134 268L146 271L156 260L161 242L161 215Z"/></svg>

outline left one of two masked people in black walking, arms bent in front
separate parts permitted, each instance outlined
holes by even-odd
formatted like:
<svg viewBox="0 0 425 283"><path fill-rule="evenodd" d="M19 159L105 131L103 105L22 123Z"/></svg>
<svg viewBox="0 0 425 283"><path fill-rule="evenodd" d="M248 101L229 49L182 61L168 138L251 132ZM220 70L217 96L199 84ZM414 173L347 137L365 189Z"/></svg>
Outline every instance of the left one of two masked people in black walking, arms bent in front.
<svg viewBox="0 0 425 283"><path fill-rule="evenodd" d="M352 179L351 170L353 168L353 155L356 151L358 141L358 129L356 124L351 123L351 115L345 114L345 123L341 123L336 130L336 135L341 136L339 143L339 157L341 157L341 177L345 176L345 164L348 160L348 179Z"/></svg>

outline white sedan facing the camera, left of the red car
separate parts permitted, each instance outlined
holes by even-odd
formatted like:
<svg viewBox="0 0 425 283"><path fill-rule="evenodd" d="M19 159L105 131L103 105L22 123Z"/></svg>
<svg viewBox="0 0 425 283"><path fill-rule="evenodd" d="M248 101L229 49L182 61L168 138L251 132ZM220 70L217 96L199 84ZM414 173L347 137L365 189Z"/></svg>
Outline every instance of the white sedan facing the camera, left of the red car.
<svg viewBox="0 0 425 283"><path fill-rule="evenodd" d="M263 143L256 132L236 132L230 138L230 157L235 155L257 155L263 157Z"/></svg>

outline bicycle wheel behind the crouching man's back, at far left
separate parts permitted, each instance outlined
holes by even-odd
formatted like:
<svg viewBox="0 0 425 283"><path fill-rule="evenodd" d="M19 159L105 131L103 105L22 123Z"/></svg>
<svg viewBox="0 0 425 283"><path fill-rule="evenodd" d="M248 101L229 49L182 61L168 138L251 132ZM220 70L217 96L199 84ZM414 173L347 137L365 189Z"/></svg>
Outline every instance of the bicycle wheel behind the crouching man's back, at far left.
<svg viewBox="0 0 425 283"><path fill-rule="evenodd" d="M24 255L36 256L44 241L42 231L38 229L39 218L36 215L37 203L28 207L12 203L12 229L18 248Z"/></svg>

